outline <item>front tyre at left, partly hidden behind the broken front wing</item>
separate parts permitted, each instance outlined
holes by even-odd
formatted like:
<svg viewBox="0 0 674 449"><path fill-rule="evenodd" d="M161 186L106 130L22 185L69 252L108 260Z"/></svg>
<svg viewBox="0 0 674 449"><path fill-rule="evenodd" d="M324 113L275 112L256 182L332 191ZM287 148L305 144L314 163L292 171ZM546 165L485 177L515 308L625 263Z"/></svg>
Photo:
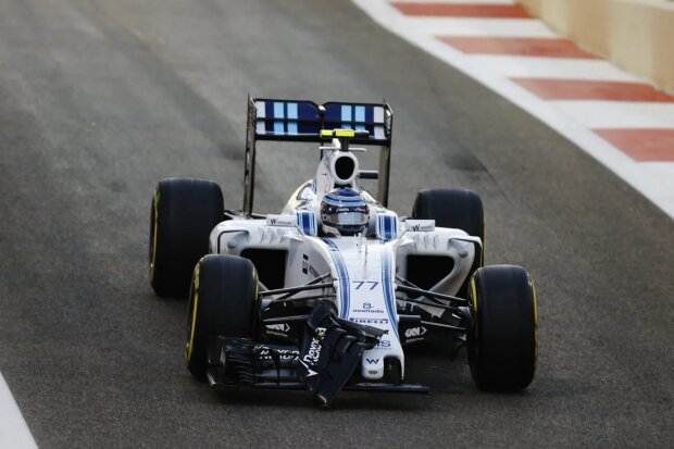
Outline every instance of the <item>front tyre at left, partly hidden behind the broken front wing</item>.
<svg viewBox="0 0 674 449"><path fill-rule="evenodd" d="M209 254L195 266L187 308L185 363L203 381L209 336L252 338L258 273L238 255Z"/></svg>

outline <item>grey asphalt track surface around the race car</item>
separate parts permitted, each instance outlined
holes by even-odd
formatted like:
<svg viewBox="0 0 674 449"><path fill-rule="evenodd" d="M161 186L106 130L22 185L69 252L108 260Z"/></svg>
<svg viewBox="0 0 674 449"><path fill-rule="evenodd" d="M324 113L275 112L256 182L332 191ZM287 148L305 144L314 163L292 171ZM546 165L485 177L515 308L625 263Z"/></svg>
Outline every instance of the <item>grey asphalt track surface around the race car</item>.
<svg viewBox="0 0 674 449"><path fill-rule="evenodd" d="M183 365L186 304L147 280L165 176L242 192L246 96L394 107L390 205L467 187L487 262L537 283L540 358L516 395L417 353L426 396L219 398ZM267 147L269 148L269 147ZM608 170L349 2L0 0L0 371L43 448L672 447L674 226ZM255 210L313 174L261 151Z"/></svg>

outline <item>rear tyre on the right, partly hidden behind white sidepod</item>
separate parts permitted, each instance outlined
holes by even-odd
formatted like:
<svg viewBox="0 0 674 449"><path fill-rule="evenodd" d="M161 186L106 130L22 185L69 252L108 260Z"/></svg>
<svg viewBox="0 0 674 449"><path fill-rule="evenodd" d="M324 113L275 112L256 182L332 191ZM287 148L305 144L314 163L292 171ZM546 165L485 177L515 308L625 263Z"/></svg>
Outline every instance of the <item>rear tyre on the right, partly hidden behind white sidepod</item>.
<svg viewBox="0 0 674 449"><path fill-rule="evenodd" d="M416 194L412 217L435 220L439 227L452 227L465 230L471 236L479 237L483 251L477 253L471 265L465 282L457 292L460 298L467 298L470 278L484 264L485 215L479 195L471 190L426 189Z"/></svg>

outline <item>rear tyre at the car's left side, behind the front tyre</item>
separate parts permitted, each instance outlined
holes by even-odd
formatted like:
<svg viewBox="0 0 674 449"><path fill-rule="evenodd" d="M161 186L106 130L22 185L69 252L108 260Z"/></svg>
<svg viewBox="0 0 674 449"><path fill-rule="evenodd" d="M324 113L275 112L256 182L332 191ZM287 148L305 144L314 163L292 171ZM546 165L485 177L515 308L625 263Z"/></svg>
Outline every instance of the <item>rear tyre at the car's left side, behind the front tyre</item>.
<svg viewBox="0 0 674 449"><path fill-rule="evenodd" d="M160 297L186 298L195 264L224 220L223 194L210 180L170 178L154 189L150 210L150 285Z"/></svg>

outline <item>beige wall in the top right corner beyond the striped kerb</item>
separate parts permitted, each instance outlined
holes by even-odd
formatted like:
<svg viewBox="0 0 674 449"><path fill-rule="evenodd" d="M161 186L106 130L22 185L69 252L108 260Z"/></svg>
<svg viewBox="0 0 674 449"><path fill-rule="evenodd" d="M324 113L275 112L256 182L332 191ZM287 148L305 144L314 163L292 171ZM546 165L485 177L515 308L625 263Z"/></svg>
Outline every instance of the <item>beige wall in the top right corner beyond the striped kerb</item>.
<svg viewBox="0 0 674 449"><path fill-rule="evenodd" d="M674 95L674 0L519 0L579 47Z"/></svg>

